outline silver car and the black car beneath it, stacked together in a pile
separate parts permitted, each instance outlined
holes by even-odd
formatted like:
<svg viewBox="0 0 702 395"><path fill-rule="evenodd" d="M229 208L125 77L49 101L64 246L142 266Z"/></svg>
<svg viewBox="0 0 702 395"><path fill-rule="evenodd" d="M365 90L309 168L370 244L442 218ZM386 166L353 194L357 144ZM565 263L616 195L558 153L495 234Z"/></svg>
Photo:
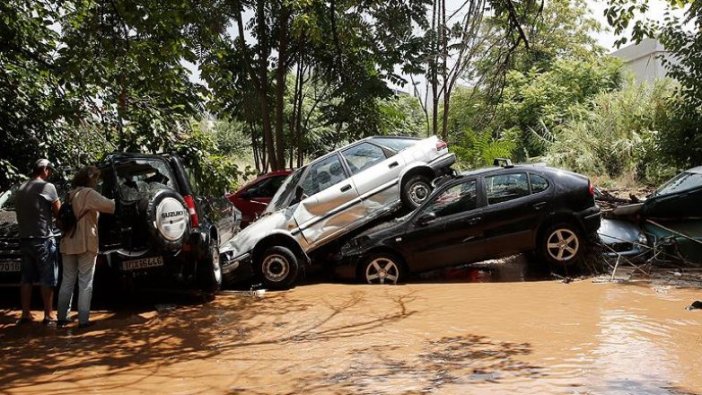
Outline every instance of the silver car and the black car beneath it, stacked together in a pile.
<svg viewBox="0 0 702 395"><path fill-rule="evenodd" d="M294 171L257 221L222 248L223 270L293 286L321 263L364 283L441 266L536 252L577 262L600 226L587 177L542 165L457 175L436 137L369 137Z"/></svg>

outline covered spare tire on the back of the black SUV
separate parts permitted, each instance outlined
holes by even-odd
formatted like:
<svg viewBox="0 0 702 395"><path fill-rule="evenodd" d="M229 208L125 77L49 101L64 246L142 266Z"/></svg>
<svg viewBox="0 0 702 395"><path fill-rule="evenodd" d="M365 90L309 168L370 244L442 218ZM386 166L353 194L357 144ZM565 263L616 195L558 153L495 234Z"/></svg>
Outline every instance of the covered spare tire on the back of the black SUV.
<svg viewBox="0 0 702 395"><path fill-rule="evenodd" d="M146 227L156 247L178 251L190 235L190 215L185 200L172 189L161 189L147 198Z"/></svg>

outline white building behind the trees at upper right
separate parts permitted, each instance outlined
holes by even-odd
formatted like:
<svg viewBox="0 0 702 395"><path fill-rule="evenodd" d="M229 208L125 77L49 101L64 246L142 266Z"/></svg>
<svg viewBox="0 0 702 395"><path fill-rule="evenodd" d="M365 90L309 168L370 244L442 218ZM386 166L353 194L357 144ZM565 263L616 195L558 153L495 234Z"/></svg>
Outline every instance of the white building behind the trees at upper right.
<svg viewBox="0 0 702 395"><path fill-rule="evenodd" d="M638 44L614 51L612 56L616 56L624 62L624 67L634 74L634 79L637 82L649 83L666 76L662 58L673 59L663 45L653 38L647 38Z"/></svg>

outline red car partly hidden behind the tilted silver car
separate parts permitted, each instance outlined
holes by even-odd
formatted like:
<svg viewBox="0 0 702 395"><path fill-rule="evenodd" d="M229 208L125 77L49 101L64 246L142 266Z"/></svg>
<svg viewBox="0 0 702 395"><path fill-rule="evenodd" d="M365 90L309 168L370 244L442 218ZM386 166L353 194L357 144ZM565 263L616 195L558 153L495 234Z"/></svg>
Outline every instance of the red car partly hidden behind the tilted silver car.
<svg viewBox="0 0 702 395"><path fill-rule="evenodd" d="M253 181L247 182L238 191L227 195L227 199L241 211L241 228L255 221L258 215L266 209L278 187L292 170L276 170L262 174Z"/></svg>

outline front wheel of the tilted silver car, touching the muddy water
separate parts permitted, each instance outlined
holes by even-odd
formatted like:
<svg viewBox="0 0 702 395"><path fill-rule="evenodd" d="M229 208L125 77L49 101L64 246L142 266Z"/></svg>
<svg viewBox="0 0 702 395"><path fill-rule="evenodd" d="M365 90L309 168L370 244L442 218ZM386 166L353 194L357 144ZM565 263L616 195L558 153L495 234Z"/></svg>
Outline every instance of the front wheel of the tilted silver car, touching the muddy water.
<svg viewBox="0 0 702 395"><path fill-rule="evenodd" d="M297 280L299 265L290 249L275 246L263 253L255 270L266 288L288 289Z"/></svg>

